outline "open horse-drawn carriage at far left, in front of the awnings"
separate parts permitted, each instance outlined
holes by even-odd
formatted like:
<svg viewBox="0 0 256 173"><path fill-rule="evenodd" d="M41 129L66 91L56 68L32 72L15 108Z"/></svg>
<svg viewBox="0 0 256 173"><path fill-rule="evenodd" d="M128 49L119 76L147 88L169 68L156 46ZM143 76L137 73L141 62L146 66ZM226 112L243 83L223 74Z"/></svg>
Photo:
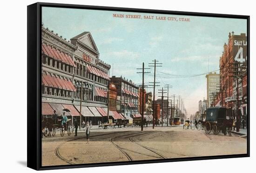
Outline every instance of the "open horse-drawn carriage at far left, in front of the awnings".
<svg viewBox="0 0 256 173"><path fill-rule="evenodd" d="M62 116L43 116L42 119L42 136L45 137L55 136L57 131L60 131L60 135L64 136L65 131L67 135L71 135L72 123L71 119L67 119L66 125L62 123Z"/></svg>

